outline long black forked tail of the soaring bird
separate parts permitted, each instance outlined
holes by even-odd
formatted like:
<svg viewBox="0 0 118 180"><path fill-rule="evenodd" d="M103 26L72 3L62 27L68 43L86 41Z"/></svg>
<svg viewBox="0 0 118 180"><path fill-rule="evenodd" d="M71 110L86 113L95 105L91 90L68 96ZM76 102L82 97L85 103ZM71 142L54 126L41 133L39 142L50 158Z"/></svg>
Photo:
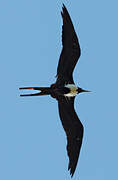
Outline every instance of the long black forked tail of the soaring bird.
<svg viewBox="0 0 118 180"><path fill-rule="evenodd" d="M21 94L20 96L43 96L50 94L50 87L23 87L19 88L20 90L29 89L29 90L37 90L40 91L35 94Z"/></svg>

